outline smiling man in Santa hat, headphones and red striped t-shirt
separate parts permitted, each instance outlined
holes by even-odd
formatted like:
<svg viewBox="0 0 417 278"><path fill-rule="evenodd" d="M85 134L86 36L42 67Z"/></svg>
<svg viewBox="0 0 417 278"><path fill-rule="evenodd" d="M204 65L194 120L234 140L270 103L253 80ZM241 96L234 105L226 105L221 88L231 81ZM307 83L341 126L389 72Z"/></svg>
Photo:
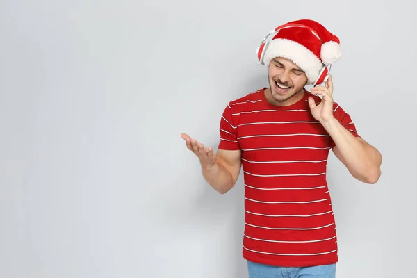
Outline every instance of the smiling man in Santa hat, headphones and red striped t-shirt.
<svg viewBox="0 0 417 278"><path fill-rule="evenodd" d="M277 30L259 49L259 60L268 65L269 88L229 102L220 121L218 152L181 137L219 193L234 186L243 166L243 257L251 278L335 277L329 150L355 179L370 184L379 179L382 156L333 101L332 76L324 72L325 85L316 86L325 65L341 56L338 38L311 20ZM305 86L311 84L308 92Z"/></svg>

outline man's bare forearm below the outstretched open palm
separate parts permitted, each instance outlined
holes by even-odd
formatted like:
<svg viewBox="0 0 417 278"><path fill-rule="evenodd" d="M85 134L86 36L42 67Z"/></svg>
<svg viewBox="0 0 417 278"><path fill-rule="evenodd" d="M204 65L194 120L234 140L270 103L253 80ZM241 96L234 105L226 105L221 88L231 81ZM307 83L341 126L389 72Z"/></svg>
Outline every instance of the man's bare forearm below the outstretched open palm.
<svg viewBox="0 0 417 278"><path fill-rule="evenodd" d="M227 193L233 186L234 181L231 173L220 163L213 167L202 167L203 177L219 193Z"/></svg>

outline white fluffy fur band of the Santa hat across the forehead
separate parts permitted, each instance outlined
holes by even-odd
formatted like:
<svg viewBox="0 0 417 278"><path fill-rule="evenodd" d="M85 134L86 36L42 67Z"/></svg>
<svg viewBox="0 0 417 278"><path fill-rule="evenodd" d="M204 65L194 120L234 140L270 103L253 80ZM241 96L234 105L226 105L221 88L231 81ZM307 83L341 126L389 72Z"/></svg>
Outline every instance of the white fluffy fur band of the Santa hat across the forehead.
<svg viewBox="0 0 417 278"><path fill-rule="evenodd" d="M287 58L304 70L308 79L307 84L312 84L316 81L323 67L322 62L313 52L293 40L272 40L263 57L265 65L269 65L275 57Z"/></svg>

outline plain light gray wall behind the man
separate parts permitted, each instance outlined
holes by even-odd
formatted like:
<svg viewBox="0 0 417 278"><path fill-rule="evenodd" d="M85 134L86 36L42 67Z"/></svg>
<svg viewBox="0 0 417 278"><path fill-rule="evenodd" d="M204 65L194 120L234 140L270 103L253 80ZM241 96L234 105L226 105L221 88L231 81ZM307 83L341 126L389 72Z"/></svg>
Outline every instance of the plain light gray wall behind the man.
<svg viewBox="0 0 417 278"><path fill-rule="evenodd" d="M242 177L215 193L180 133L217 149L302 18L341 38L335 101L383 155L370 186L330 154L337 277L417 277L414 5L1 0L0 277L247 277Z"/></svg>

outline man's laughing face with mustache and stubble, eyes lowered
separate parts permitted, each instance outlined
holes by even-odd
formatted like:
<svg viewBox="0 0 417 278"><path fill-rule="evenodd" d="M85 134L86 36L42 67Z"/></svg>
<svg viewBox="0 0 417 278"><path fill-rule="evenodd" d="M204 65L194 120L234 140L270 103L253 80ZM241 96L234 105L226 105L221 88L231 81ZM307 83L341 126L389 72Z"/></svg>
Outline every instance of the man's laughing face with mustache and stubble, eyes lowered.
<svg viewBox="0 0 417 278"><path fill-rule="evenodd" d="M291 60L277 57L269 65L268 80L272 98L281 103L304 89L307 76Z"/></svg>

